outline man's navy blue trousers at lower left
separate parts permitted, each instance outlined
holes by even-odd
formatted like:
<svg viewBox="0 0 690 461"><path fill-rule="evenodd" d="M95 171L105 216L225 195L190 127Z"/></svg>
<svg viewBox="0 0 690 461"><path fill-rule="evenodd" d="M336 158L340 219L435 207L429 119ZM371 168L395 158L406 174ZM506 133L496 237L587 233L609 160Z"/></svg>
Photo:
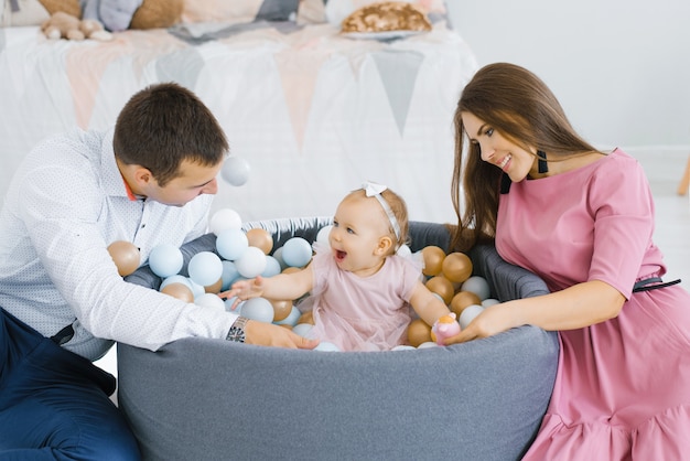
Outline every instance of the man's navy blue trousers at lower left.
<svg viewBox="0 0 690 461"><path fill-rule="evenodd" d="M115 377L0 309L0 460L139 460Z"/></svg>

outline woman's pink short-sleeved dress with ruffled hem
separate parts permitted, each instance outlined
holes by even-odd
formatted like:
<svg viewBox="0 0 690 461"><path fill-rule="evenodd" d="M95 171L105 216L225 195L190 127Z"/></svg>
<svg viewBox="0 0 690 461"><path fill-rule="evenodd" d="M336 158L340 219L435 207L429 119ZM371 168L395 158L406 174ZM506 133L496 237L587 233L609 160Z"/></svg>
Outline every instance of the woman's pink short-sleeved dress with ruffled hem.
<svg viewBox="0 0 690 461"><path fill-rule="evenodd" d="M524 459L690 459L690 296L680 285L633 292L637 280L666 272L637 161L616 149L514 183L497 227L499 254L551 291L602 280L627 298L617 318L559 333L553 395Z"/></svg>

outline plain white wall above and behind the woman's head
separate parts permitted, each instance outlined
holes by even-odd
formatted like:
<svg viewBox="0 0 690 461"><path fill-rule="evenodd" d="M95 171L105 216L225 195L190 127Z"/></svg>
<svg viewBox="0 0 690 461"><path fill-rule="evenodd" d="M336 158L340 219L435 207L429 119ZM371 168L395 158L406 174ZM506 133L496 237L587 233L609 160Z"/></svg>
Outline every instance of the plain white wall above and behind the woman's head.
<svg viewBox="0 0 690 461"><path fill-rule="evenodd" d="M539 75L601 147L690 149L688 0L446 0L479 65Z"/></svg>

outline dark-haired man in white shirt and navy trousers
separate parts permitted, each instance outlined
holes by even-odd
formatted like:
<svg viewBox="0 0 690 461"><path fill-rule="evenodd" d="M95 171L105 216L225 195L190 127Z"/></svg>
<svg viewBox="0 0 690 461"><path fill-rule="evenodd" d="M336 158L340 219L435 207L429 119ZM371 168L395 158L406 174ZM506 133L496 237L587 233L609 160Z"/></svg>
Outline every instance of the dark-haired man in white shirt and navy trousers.
<svg viewBox="0 0 690 461"><path fill-rule="evenodd" d="M155 351L186 336L313 349L314 341L122 280L108 245L145 261L206 232L228 152L208 108L176 84L136 94L105 132L35 148L0 214L0 459L138 459L91 364L114 341ZM237 322L237 323L236 323Z"/></svg>

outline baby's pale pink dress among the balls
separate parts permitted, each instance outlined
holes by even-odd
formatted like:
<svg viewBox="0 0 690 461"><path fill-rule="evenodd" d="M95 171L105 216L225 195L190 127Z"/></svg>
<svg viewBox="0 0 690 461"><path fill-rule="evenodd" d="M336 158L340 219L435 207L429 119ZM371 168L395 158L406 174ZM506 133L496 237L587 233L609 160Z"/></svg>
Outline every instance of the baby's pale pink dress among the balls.
<svg viewBox="0 0 690 461"><path fill-rule="evenodd" d="M312 336L341 351L386 351L406 343L413 313L408 302L421 266L389 256L378 272L358 277L341 270L327 247L316 248L312 265L314 288L298 305L312 309Z"/></svg>

